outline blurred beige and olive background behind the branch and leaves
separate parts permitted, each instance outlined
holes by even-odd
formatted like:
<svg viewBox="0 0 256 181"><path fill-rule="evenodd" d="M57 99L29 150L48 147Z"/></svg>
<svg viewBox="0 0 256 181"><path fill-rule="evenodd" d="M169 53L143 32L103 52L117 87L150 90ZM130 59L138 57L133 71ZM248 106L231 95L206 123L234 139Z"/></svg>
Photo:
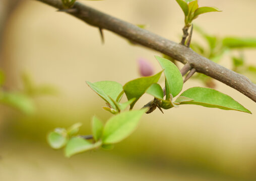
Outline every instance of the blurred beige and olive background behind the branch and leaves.
<svg viewBox="0 0 256 181"><path fill-rule="evenodd" d="M10 0L9 0L10 1ZM183 13L174 0L81 1L133 24L179 41ZM221 13L202 15L195 23L218 36L256 37L256 1L201 0ZM1 7L2 10L4 9ZM4 27L0 65L10 90L21 88L21 73L36 83L52 84L57 96L35 100L37 113L26 116L1 107L0 180L256 180L256 106L234 89L217 82L253 114L193 105L145 115L136 132L112 151L86 152L68 159L52 150L46 134L55 127L82 122L90 134L93 115L110 117L104 102L85 81L124 84L139 77L137 59L148 59L155 71L158 52L131 46L125 39L98 29L36 1L22 1ZM199 38L195 34L193 40ZM254 65L256 50L247 50ZM221 64L230 68L230 59ZM203 86L190 80L184 89ZM143 96L136 108L152 98Z"/></svg>

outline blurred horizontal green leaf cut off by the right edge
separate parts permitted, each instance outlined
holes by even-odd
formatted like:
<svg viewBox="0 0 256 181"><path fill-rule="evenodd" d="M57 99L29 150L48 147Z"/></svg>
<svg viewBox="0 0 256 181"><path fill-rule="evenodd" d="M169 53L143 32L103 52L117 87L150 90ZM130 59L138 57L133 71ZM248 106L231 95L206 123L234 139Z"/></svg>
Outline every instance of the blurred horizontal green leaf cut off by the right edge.
<svg viewBox="0 0 256 181"><path fill-rule="evenodd" d="M228 48L256 48L256 38L226 37L222 44Z"/></svg>

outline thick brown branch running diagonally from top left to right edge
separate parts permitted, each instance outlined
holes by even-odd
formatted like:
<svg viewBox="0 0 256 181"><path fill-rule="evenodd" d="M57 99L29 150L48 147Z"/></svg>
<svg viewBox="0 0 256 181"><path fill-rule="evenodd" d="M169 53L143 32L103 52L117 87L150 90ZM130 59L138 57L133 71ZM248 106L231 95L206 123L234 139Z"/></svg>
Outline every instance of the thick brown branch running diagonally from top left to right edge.
<svg viewBox="0 0 256 181"><path fill-rule="evenodd" d="M46 3L57 9L62 9L60 0L36 1ZM204 73L235 88L237 91L256 102L256 85L247 77L216 64L183 45L99 12L79 2L76 2L73 8L76 8L78 12L69 14L83 20L89 25L112 31L133 42L164 53L184 64L189 63L197 72Z"/></svg>

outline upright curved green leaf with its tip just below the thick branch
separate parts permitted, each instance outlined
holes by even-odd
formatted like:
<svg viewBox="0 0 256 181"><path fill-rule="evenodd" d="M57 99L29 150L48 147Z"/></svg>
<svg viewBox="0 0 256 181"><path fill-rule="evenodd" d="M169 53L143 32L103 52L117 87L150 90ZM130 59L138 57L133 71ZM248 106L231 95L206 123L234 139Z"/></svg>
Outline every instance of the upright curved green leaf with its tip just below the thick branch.
<svg viewBox="0 0 256 181"><path fill-rule="evenodd" d="M155 57L160 63L161 67L164 69L164 75L170 87L170 94L174 98L182 90L182 86L183 86L182 75L174 63L159 56L155 56Z"/></svg>

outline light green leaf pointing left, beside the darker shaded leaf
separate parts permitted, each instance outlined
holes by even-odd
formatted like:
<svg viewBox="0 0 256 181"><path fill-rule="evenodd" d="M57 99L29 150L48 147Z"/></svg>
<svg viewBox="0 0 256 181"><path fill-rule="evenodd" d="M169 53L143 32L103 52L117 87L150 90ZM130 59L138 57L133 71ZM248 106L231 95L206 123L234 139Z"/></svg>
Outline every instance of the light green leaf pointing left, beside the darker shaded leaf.
<svg viewBox="0 0 256 181"><path fill-rule="evenodd" d="M109 99L111 97L116 100L119 94L122 92L122 85L115 81L98 81L91 83L86 81L86 83L96 92L104 101L106 101L110 106L115 109L114 103ZM109 97L108 97L109 96Z"/></svg>

